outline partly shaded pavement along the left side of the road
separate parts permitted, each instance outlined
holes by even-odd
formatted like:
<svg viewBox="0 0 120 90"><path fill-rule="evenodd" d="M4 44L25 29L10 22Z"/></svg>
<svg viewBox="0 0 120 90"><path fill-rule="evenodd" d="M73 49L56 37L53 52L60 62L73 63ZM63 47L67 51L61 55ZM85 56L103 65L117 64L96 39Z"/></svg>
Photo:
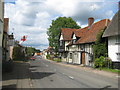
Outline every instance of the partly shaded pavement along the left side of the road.
<svg viewBox="0 0 120 90"><path fill-rule="evenodd" d="M2 88L30 88L29 63L14 62L10 73L2 74Z"/></svg>

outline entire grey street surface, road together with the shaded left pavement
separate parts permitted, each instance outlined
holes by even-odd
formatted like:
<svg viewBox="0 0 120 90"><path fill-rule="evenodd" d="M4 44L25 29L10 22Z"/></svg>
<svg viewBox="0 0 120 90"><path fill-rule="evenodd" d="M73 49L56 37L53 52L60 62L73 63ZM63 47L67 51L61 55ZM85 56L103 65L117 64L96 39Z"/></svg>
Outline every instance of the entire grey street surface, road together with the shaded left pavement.
<svg viewBox="0 0 120 90"><path fill-rule="evenodd" d="M79 65L37 58L15 62L11 73L3 74L3 88L98 88L118 90L118 75Z"/></svg>

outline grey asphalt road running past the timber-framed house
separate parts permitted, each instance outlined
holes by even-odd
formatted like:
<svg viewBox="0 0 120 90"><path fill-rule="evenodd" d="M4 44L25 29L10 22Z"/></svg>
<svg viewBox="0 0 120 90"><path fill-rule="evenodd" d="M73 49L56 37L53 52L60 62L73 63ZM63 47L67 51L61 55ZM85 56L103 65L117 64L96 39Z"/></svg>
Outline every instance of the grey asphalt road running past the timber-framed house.
<svg viewBox="0 0 120 90"><path fill-rule="evenodd" d="M118 78L36 58L30 61L32 88L118 88Z"/></svg>

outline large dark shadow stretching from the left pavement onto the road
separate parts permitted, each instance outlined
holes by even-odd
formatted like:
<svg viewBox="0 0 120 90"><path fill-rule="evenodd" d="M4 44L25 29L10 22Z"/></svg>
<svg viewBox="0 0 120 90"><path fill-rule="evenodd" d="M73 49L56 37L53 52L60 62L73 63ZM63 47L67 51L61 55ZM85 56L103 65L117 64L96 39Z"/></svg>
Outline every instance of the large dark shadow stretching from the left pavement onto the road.
<svg viewBox="0 0 120 90"><path fill-rule="evenodd" d="M13 71L11 73L4 73L2 77L2 81L29 79L29 78L42 79L44 77L54 74L52 72L38 72L34 67L39 67L39 66L30 66L28 63L14 63Z"/></svg>

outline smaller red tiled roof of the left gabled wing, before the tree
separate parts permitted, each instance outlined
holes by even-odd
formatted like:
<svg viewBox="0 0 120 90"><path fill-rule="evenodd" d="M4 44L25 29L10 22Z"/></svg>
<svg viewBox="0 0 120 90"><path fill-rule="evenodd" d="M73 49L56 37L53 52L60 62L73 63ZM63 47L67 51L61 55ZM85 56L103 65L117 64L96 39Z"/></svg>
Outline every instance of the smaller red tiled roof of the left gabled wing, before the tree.
<svg viewBox="0 0 120 90"><path fill-rule="evenodd" d="M63 35L63 40L71 40L72 34L74 31L78 29L72 29L72 28L62 28L61 33Z"/></svg>

